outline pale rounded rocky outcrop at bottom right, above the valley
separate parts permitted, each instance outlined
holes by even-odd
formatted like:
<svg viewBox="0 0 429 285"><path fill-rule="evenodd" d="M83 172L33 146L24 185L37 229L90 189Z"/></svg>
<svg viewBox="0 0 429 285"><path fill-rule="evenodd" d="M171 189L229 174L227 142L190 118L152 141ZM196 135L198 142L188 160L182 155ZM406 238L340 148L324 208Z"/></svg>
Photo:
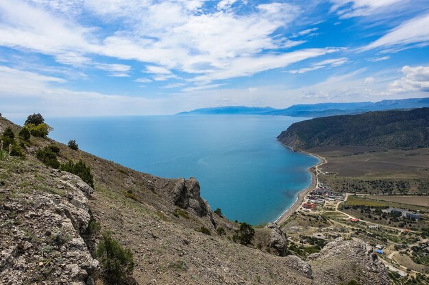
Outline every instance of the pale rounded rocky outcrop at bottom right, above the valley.
<svg viewBox="0 0 429 285"><path fill-rule="evenodd" d="M317 254L307 258L315 284L345 284L356 280L365 285L388 285L384 264L370 245L360 239L343 238L328 243Z"/></svg>

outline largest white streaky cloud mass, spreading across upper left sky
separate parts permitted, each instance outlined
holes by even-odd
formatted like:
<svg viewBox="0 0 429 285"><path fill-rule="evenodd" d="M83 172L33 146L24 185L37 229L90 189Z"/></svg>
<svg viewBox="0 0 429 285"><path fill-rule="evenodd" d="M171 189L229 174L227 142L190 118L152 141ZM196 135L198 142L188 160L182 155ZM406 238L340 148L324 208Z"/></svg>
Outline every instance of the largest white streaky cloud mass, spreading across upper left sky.
<svg viewBox="0 0 429 285"><path fill-rule="evenodd" d="M235 62L258 62L262 51L275 52L302 43L279 42L272 36L302 13L289 3L260 4L249 14L237 14L233 10L202 10L203 0L32 2L37 5L0 1L0 45L52 55L58 62L74 66L96 67L91 58L103 55L137 60L148 68L197 74L236 68L226 72L233 77L242 73ZM233 2L219 4L226 7ZM70 16L79 13L96 14L108 24L119 21L123 27L110 34L98 33L100 28L84 27L74 20L79 16ZM272 53L273 57L282 62L281 53ZM158 76L155 80L164 79L167 77Z"/></svg>

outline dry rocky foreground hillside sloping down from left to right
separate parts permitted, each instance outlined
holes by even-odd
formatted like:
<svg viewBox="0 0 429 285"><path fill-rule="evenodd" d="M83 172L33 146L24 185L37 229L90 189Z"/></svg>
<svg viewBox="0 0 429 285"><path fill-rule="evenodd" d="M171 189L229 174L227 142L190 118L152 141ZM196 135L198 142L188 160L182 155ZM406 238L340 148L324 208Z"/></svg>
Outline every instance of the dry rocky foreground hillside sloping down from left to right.
<svg viewBox="0 0 429 285"><path fill-rule="evenodd" d="M0 133L8 126L20 129L0 118ZM36 159L53 144L60 162L90 166L94 189ZM288 255L275 224L254 229L248 246L234 243L240 225L212 212L194 178L135 172L51 139L31 137L23 148L25 158L0 160L1 284L106 284L94 250L105 230L134 254L123 284L389 284L362 241L335 241L308 261ZM339 247L354 254L345 258Z"/></svg>

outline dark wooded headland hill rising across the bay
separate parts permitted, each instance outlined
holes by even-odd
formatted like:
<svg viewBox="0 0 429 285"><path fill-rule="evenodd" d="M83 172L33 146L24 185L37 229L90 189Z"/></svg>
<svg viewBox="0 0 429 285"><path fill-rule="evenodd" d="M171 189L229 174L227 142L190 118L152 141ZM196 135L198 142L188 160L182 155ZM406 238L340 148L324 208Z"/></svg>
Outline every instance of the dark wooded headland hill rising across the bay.
<svg viewBox="0 0 429 285"><path fill-rule="evenodd" d="M297 150L319 146L429 146L429 108L376 111L297 122L282 132L282 144Z"/></svg>

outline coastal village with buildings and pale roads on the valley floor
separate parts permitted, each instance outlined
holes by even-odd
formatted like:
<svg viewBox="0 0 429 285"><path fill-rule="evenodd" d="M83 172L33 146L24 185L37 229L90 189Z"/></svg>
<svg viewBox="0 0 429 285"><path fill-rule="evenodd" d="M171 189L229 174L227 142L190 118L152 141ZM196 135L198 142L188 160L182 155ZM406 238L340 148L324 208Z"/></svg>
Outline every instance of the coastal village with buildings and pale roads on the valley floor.
<svg viewBox="0 0 429 285"><path fill-rule="evenodd" d="M369 241L389 271L397 280L402 280L421 275L429 277L429 240L425 233L428 211L420 208L371 200L368 195L345 193L341 189L335 191L317 180L315 189L305 195L299 206L297 217L308 221L322 218L319 223L311 224L318 225L312 238L356 236ZM328 228L324 228L326 226ZM304 228L308 230L308 226ZM336 234L330 228L334 228Z"/></svg>

